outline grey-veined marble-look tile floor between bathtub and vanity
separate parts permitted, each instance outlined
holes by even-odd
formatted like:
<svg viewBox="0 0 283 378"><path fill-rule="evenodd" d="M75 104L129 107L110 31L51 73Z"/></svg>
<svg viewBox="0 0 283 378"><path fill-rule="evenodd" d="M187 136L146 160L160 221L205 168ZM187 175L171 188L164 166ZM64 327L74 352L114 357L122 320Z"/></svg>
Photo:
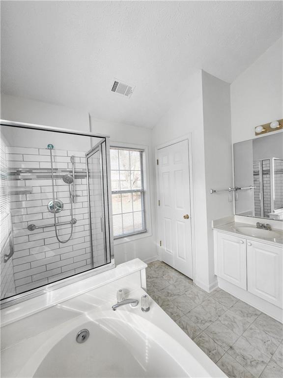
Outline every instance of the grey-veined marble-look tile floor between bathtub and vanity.
<svg viewBox="0 0 283 378"><path fill-rule="evenodd" d="M283 325L216 289L208 294L161 261L147 292L229 378L283 378Z"/></svg>

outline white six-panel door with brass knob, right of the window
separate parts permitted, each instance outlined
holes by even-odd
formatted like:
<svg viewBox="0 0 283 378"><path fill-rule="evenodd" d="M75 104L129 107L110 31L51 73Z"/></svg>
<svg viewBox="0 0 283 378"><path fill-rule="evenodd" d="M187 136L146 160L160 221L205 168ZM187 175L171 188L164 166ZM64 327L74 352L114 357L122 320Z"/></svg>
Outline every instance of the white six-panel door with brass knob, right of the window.
<svg viewBox="0 0 283 378"><path fill-rule="evenodd" d="M188 141L158 150L157 158L161 258L193 278Z"/></svg>

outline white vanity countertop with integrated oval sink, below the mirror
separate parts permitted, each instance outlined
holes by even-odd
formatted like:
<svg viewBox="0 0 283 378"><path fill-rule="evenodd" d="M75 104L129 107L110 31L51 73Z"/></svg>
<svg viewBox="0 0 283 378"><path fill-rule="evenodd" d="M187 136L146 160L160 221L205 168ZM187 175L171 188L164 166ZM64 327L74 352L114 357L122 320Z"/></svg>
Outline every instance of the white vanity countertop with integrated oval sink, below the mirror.
<svg viewBox="0 0 283 378"><path fill-rule="evenodd" d="M214 230L242 236L245 239L254 239L261 242L272 243L275 245L283 245L283 231L272 228L265 230L256 228L255 225L249 223L229 222L222 225L214 225Z"/></svg>

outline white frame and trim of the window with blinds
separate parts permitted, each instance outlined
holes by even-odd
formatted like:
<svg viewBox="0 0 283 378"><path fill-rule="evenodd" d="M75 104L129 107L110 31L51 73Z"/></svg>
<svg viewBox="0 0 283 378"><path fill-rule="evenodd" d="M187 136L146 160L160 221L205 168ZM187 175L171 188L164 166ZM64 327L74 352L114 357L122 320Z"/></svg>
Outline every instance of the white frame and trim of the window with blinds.
<svg viewBox="0 0 283 378"><path fill-rule="evenodd" d="M138 240L141 238L152 236L152 228L151 228L151 205L150 205L150 192L149 192L149 169L148 169L148 146L146 145L138 145L134 143L123 143L123 142L110 142L110 149L129 149L129 150L143 150L143 193L144 193L144 221L146 225L146 230L133 232L128 235L121 235L118 237L114 237L114 245L122 244L131 242L134 240ZM114 190L116 191L116 190ZM129 190L130 191L130 190ZM137 190L142 191L142 190ZM113 190L111 190L112 194ZM131 190L132 192L132 190ZM114 193L113 193L114 194ZM113 217L113 212L112 212Z"/></svg>

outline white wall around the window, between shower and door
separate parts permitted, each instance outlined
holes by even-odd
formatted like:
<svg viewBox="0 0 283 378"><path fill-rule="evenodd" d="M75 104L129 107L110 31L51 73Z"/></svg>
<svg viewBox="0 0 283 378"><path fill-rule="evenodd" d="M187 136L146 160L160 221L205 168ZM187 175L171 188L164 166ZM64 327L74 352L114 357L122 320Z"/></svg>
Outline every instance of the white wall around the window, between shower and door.
<svg viewBox="0 0 283 378"><path fill-rule="evenodd" d="M118 143L129 143L132 146L143 145L148 147L148 169L149 183L147 187L150 189L150 209L151 209L151 225L152 231L149 235L137 240L129 237L127 242L114 241L115 264L120 264L139 257L145 262L153 261L157 258L157 246L155 237L155 177L153 168L153 152L152 152L152 131L147 128L117 124L113 122L97 120L90 115L90 129L93 133L103 133L110 135L110 145ZM119 244L117 244L119 243Z"/></svg>

